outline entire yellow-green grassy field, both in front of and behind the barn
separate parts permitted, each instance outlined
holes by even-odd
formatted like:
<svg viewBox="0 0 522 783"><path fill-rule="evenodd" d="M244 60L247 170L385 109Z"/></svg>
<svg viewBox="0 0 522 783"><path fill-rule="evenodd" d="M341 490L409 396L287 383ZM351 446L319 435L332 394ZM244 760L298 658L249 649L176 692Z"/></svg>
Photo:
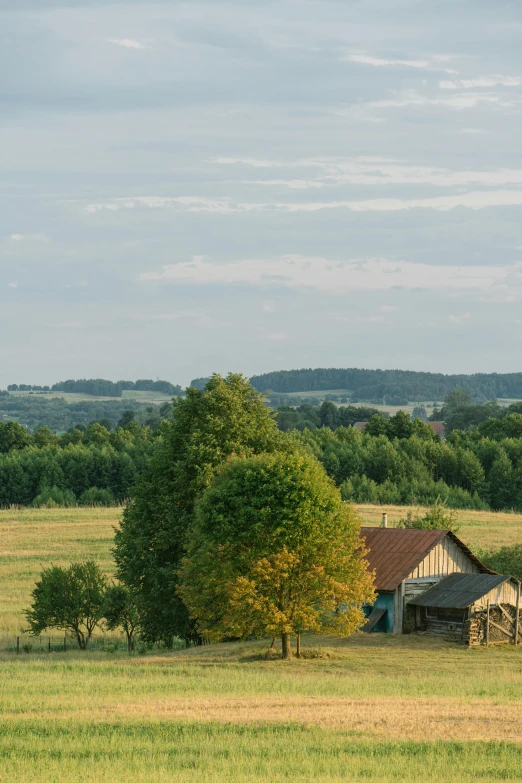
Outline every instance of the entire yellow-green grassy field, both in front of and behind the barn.
<svg viewBox="0 0 522 783"><path fill-rule="evenodd" d="M382 511L359 508L366 524ZM0 634L23 626L42 566L92 557L111 573L120 514L0 512ZM461 520L465 541L522 540L522 515ZM267 659L267 641L131 657L4 650L0 781L521 779L522 648L381 634L303 642L290 663Z"/></svg>

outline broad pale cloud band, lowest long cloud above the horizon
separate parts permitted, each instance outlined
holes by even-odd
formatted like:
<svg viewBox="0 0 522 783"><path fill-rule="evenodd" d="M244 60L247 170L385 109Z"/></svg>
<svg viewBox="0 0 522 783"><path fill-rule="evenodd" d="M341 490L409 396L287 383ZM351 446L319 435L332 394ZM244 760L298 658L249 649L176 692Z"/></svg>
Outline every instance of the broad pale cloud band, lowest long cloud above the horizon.
<svg viewBox="0 0 522 783"><path fill-rule="evenodd" d="M192 285L304 287L328 293L397 287L488 292L504 285L508 276L515 276L522 288L522 264L441 268L387 259L340 262L320 257L283 256L239 262L212 262L196 257L190 262L164 266L160 272L145 272L140 280Z"/></svg>

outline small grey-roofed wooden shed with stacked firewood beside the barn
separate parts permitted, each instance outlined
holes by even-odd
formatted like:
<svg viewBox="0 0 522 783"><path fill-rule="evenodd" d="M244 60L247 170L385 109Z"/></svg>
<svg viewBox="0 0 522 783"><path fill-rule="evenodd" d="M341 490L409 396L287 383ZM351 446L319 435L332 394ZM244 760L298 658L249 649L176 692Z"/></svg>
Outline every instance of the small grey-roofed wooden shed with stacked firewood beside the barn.
<svg viewBox="0 0 522 783"><path fill-rule="evenodd" d="M520 610L520 582L501 574L449 574L410 606L416 627L430 635L480 643L493 630L501 641L509 641Z"/></svg>

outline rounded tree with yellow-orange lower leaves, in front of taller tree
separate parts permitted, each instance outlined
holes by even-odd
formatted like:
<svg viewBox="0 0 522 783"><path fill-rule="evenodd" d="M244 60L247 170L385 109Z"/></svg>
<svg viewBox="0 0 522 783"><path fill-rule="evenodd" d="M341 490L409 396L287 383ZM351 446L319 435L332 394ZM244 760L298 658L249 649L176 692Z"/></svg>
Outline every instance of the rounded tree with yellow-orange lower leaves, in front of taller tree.
<svg viewBox="0 0 522 783"><path fill-rule="evenodd" d="M198 504L178 592L198 631L227 636L309 630L348 636L372 600L359 521L308 455L230 462Z"/></svg>

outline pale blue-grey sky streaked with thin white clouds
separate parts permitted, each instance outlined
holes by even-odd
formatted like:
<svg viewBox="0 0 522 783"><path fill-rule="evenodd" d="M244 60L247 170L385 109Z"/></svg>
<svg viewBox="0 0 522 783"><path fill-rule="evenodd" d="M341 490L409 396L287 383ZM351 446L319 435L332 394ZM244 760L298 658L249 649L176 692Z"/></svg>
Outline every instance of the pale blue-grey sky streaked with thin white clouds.
<svg viewBox="0 0 522 783"><path fill-rule="evenodd" d="M515 0L1 0L0 388L522 370Z"/></svg>

